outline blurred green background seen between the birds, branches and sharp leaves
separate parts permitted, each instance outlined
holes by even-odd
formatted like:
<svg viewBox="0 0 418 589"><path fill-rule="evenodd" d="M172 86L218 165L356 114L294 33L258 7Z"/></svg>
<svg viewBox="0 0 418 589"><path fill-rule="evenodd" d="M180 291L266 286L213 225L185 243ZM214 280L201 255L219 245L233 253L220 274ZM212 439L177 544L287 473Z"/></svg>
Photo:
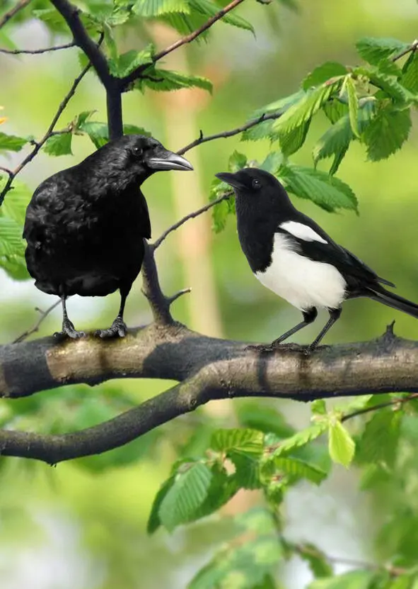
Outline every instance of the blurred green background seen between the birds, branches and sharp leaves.
<svg viewBox="0 0 418 589"><path fill-rule="evenodd" d="M211 134L243 124L256 108L296 91L310 69L325 60L355 63L354 43L361 36L388 36L406 42L417 36L414 0L304 0L299 6L296 14L273 4L243 4L238 13L254 24L255 37L218 23L209 44L194 44L166 60L172 69L209 77L214 82L213 96L199 90L148 91L145 96L132 92L124 95L124 122L143 126L166 147L177 150L195 139L200 129ZM161 47L175 39L168 28L149 26ZM138 35L130 30L119 43L124 50L140 49L145 36L146 31ZM35 22L14 29L13 40L26 48L50 43L45 29ZM4 106L2 116L8 117L2 130L41 137L78 72L74 49L20 58L0 55L0 104ZM98 120L105 120L105 96L89 74L58 128L77 113L93 109L98 111ZM295 162L311 165L310 150L326 124L325 118L313 120L306 145L292 158ZM416 128L405 147L387 161L368 163L360 146L350 147L338 176L359 198L359 217L325 213L306 201L296 203L337 242L380 276L395 282L402 296L415 301L417 147ZM75 138L74 157L41 154L25 168L21 179L35 189L42 179L79 162L92 150L87 138ZM239 136L208 142L187 154L195 174L157 174L146 182L153 238L207 202L211 180L216 172L226 169L233 150L262 160L269 143L240 142ZM18 154L0 163L12 167L21 157ZM13 198L13 193L7 198ZM299 320L297 310L253 278L240 252L233 218L219 235L211 232L210 215L191 220L168 237L157 258L166 293L192 287L192 293L173 307L175 318L192 329L269 342ZM32 281L13 282L3 273L0 300L2 343L10 342L35 322L35 306L46 309L53 302L37 291ZM69 313L79 329L94 329L107 326L117 306L117 295L75 297L69 301ZM417 339L418 324L407 315L371 301L350 301L327 343L378 337L393 319L397 334ZM151 320L141 294L141 279L129 297L126 320L132 326ZM40 335L57 330L60 321L57 309L43 323ZM298 335L298 342L310 342L324 321L321 314L315 325ZM71 431L105 420L168 386L157 381L113 381L95 388L62 388L13 403L2 400L0 420L10 422L13 416L11 427L25 430ZM204 437L204 428L200 428L208 416L215 425L234 425L238 403L212 403L122 451L57 468L0 459L1 589L184 588L214 548L230 536L233 514L257 503L257 495L238 495L218 517L172 535L160 529L154 537L146 537L146 518L178 448L199 444L193 437L196 432ZM282 401L277 405L294 425L308 424L303 405ZM373 559L373 532L385 514L371 509L370 498L359 494L356 482L354 469L347 472L336 467L319 489L301 485L291 490L286 500L289 537L315 540L328 553L347 559ZM297 560L286 565L280 575L289 589L301 589L310 579L306 566Z"/></svg>

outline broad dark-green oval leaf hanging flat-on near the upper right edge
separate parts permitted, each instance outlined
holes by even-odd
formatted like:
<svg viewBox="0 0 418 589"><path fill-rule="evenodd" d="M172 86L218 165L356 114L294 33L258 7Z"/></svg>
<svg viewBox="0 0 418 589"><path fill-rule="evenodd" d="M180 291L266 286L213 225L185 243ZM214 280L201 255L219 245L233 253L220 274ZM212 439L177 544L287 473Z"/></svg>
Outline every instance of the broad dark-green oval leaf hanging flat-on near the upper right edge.
<svg viewBox="0 0 418 589"><path fill-rule="evenodd" d="M397 111L391 105L380 108L361 135L368 159L377 162L399 150L410 135L411 125L409 110Z"/></svg>

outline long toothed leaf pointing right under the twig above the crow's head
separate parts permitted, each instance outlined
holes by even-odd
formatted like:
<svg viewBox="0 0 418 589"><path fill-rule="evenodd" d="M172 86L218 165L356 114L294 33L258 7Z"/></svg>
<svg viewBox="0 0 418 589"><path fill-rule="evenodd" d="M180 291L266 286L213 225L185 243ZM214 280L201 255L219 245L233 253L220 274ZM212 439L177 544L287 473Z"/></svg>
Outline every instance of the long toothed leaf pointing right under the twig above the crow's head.
<svg viewBox="0 0 418 589"><path fill-rule="evenodd" d="M208 92L212 91L212 83L207 78L154 67L147 69L146 77L139 78L134 83L134 88L141 92L146 87L156 91L180 90L182 88L202 88Z"/></svg>

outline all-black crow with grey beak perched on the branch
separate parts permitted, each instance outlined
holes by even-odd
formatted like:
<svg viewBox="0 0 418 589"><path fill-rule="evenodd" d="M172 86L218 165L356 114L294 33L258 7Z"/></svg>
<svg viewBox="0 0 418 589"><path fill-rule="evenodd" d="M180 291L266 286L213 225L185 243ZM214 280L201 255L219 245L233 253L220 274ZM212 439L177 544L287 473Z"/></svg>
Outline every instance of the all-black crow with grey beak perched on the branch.
<svg viewBox="0 0 418 589"><path fill-rule="evenodd" d="M151 237L139 187L154 172L170 169L193 168L156 139L124 135L37 187L26 211L25 258L35 286L62 299L57 335L84 335L68 318L67 297L106 296L117 289L117 318L95 335L126 335L124 305L144 259L144 238Z"/></svg>

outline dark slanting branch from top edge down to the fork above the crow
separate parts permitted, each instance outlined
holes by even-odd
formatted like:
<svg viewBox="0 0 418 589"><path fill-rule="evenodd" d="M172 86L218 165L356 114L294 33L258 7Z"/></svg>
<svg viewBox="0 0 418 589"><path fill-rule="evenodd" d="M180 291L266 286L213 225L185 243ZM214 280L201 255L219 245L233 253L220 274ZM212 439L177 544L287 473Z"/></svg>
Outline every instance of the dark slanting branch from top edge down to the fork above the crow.
<svg viewBox="0 0 418 589"><path fill-rule="evenodd" d="M108 61L100 51L100 47L94 43L88 35L80 18L80 9L67 0L51 0L57 11L62 15L74 37L74 43L86 54L98 74L103 86L110 86L113 77L109 72Z"/></svg>

